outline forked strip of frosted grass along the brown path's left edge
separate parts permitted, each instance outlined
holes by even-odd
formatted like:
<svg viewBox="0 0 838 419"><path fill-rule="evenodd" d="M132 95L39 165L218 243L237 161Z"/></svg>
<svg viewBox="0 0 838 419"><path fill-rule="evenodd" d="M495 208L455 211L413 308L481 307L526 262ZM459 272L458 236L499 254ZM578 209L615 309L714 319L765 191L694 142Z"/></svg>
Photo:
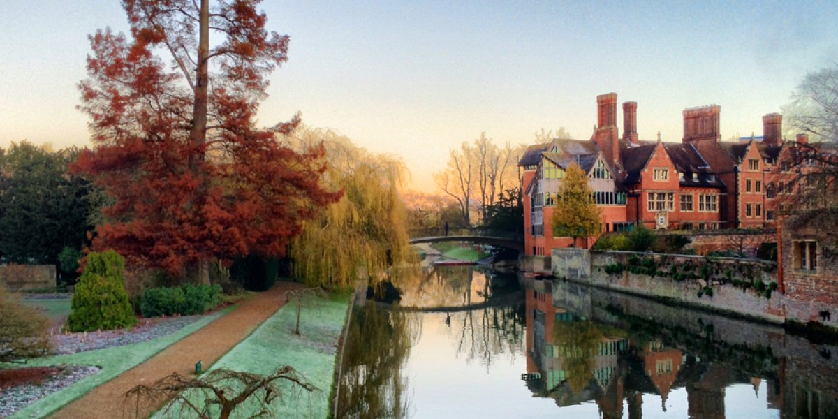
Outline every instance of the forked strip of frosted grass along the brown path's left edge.
<svg viewBox="0 0 838 419"><path fill-rule="evenodd" d="M133 367L142 364L143 361L151 358L169 345L184 339L189 334L199 328L204 327L207 323L220 318L223 314L229 313L233 308L225 308L218 313L200 318L198 321L191 323L184 328L181 328L173 334L161 336L158 339L149 340L139 344L129 344L125 346L116 346L114 348L97 349L78 354L56 355L46 358L38 358L29 360L26 366L44 366L44 365L96 365L101 367L101 370L94 374L85 377L82 380L76 381L74 384L50 393L44 398L35 401L33 404L24 407L17 411L10 418L28 418L28 417L44 417L50 413L57 411L62 406L75 401L85 393L95 389L97 386L112 380L123 372L132 369ZM0 368L19 368L20 365L0 364Z"/></svg>

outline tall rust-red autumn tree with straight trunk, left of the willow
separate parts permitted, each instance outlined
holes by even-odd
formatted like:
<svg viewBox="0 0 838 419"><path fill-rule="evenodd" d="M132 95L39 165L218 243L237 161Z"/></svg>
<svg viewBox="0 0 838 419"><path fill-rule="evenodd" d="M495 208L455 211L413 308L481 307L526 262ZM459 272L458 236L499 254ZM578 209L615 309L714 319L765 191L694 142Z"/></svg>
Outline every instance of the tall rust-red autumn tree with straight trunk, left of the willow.
<svg viewBox="0 0 838 419"><path fill-rule="evenodd" d="M318 184L322 149L275 139L298 115L255 127L266 75L288 47L258 3L123 0L130 38L91 35L79 89L96 148L75 169L109 198L97 250L205 280L208 261L283 256L303 220L339 199Z"/></svg>

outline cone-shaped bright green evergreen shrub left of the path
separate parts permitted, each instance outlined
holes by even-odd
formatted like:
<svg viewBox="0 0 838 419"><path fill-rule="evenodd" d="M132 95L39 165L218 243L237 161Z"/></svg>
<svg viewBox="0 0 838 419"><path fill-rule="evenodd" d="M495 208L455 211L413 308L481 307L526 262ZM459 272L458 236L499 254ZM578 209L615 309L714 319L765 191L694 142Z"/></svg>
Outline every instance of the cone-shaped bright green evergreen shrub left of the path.
<svg viewBox="0 0 838 419"><path fill-rule="evenodd" d="M137 323L122 270L125 260L116 251L87 255L85 272L76 282L67 328L71 332L127 328Z"/></svg>

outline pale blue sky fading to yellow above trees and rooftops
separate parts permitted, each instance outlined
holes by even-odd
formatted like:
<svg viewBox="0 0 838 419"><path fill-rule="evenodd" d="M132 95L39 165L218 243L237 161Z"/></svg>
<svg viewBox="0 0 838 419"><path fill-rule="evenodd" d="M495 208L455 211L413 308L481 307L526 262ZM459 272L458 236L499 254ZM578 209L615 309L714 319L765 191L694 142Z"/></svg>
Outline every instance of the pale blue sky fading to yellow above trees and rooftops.
<svg viewBox="0 0 838 419"><path fill-rule="evenodd" d="M687 107L722 106L722 138L762 134L807 72L838 62L838 2L279 2L288 34L259 125L297 111L401 157L432 192L450 149L486 132L587 139L596 96L638 102L641 139L680 141ZM127 32L116 0L0 0L0 147L91 146L76 109L88 34ZM619 109L622 109L618 106ZM622 114L622 111L619 112ZM622 127L622 116L618 117ZM621 129L622 132L622 129Z"/></svg>

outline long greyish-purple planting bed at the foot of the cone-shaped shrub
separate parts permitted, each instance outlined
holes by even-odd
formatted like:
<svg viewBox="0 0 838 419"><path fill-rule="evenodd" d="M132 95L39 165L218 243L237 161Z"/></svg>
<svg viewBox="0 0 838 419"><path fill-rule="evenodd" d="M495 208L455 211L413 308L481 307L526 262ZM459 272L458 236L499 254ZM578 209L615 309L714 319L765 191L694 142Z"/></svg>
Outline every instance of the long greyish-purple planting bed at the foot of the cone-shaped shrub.
<svg viewBox="0 0 838 419"><path fill-rule="evenodd" d="M75 354L85 350L111 348L125 344L137 344L177 332L201 316L180 316L170 318L142 319L134 328L105 330L80 334L58 334L53 341L59 354Z"/></svg>

